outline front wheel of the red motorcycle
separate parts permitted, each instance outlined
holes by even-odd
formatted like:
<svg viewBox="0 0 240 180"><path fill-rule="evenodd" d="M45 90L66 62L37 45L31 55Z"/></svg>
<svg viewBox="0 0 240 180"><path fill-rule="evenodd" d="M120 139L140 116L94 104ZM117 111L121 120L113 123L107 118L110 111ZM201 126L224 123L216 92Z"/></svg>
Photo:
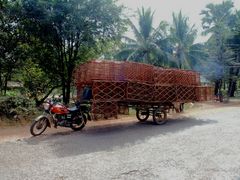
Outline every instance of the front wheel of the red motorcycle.
<svg viewBox="0 0 240 180"><path fill-rule="evenodd" d="M42 117L38 121L34 121L30 127L30 133L33 136L39 136L42 134L48 125L48 119L46 117Z"/></svg>

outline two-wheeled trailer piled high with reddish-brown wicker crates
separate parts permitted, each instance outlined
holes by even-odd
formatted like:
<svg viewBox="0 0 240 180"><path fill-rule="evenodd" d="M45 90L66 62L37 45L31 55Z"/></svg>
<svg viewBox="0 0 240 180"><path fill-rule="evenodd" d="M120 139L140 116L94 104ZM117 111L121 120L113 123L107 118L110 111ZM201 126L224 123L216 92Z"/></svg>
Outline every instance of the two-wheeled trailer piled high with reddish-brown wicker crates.
<svg viewBox="0 0 240 180"><path fill-rule="evenodd" d="M131 107L140 122L152 116L162 125L171 110L213 99L213 87L201 86L198 72L142 63L92 60L75 69L74 79L78 98L91 89L93 119L117 118L121 108Z"/></svg>

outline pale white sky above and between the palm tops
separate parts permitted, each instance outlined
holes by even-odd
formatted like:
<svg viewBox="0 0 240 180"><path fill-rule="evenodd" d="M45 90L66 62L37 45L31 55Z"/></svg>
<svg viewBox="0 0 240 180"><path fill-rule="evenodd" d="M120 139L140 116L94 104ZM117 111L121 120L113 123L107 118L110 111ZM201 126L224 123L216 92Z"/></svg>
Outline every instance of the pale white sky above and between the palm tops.
<svg viewBox="0 0 240 180"><path fill-rule="evenodd" d="M154 11L154 26L157 27L160 21L165 20L169 23L172 22L172 13L182 11L183 15L189 17L189 23L195 24L198 30L198 38L196 42L204 42L207 37L201 36L201 16L200 12L209 3L222 3L223 0L119 0L120 4L127 7L127 13L130 19L137 23L136 15L137 8L151 7ZM235 8L240 9L240 0L232 0ZM128 33L131 34L130 32Z"/></svg>

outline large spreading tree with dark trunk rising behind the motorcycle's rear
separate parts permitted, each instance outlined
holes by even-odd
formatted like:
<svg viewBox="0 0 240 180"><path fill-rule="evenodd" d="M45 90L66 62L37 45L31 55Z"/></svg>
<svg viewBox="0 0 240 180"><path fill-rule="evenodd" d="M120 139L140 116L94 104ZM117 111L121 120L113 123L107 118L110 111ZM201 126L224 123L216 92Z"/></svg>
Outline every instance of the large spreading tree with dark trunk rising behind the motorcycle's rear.
<svg viewBox="0 0 240 180"><path fill-rule="evenodd" d="M120 38L123 8L114 0L22 0L22 9L28 36L53 49L54 73L60 77L63 101L68 103L76 64Z"/></svg>

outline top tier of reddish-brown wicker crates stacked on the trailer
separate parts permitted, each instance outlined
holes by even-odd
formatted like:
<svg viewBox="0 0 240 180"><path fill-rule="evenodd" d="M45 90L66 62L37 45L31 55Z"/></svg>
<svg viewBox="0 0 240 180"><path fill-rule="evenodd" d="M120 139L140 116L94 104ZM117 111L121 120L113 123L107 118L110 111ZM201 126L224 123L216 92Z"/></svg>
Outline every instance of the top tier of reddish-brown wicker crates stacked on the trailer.
<svg viewBox="0 0 240 180"><path fill-rule="evenodd" d="M76 84L91 84L93 80L108 80L157 85L200 85L200 75L194 71L163 69L147 64L119 61L90 61L78 66L74 77Z"/></svg>

